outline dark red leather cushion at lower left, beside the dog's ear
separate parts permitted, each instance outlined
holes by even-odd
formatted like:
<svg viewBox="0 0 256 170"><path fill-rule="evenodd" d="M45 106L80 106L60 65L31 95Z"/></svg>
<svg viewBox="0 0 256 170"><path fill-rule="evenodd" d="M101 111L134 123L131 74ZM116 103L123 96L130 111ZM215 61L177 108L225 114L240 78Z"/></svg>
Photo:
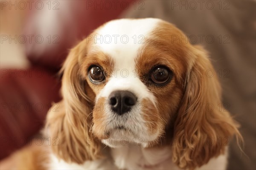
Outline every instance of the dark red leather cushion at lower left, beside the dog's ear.
<svg viewBox="0 0 256 170"><path fill-rule="evenodd" d="M60 100L60 82L40 67L1 69L0 159L31 141L44 124L51 102Z"/></svg>

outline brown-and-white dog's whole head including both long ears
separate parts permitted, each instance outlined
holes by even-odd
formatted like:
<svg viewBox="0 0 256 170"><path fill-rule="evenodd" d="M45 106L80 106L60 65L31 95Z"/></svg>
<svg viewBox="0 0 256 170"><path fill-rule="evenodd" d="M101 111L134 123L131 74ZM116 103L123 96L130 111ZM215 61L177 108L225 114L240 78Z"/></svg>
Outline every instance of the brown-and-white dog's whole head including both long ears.
<svg viewBox="0 0 256 170"><path fill-rule="evenodd" d="M96 159L101 142L135 138L171 145L179 167L195 168L239 136L207 53L162 20L104 24L70 51L62 71L62 111L49 113L47 126L66 161Z"/></svg>

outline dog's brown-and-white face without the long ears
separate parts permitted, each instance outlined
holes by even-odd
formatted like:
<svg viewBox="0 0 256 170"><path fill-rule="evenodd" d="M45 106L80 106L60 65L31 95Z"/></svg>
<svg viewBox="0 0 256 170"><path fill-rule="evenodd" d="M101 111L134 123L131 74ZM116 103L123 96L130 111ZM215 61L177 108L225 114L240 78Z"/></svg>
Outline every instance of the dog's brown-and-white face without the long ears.
<svg viewBox="0 0 256 170"><path fill-rule="evenodd" d="M164 24L156 19L114 20L88 37L80 71L95 94L92 130L99 139L137 138L147 146L160 139L173 119L184 83L175 74L186 72L187 47L172 44ZM119 37L108 43L105 37L113 35ZM109 140L102 142L118 146Z"/></svg>

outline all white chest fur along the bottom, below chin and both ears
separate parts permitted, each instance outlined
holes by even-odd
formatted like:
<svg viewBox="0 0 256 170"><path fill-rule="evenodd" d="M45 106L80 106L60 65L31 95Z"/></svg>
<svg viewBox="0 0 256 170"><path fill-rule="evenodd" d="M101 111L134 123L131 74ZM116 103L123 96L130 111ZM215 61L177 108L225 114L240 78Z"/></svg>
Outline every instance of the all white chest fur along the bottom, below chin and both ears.
<svg viewBox="0 0 256 170"><path fill-rule="evenodd" d="M226 151L227 153L227 151ZM224 170L227 166L227 154L212 158L198 170ZM172 162L171 148L143 148L141 146L122 146L111 148L111 155L106 159L85 161L84 164L66 163L51 154L49 169L54 170L114 170L114 169L143 169L143 170L178 170Z"/></svg>

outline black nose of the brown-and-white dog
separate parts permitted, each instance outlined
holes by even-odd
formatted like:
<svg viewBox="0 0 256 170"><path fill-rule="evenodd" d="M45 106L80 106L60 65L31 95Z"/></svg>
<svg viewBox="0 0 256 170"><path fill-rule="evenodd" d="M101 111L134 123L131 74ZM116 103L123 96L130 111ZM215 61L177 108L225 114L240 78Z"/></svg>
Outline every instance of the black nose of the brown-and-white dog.
<svg viewBox="0 0 256 170"><path fill-rule="evenodd" d="M112 111L122 115L131 110L136 103L136 96L130 91L113 91L109 95L109 104Z"/></svg>

